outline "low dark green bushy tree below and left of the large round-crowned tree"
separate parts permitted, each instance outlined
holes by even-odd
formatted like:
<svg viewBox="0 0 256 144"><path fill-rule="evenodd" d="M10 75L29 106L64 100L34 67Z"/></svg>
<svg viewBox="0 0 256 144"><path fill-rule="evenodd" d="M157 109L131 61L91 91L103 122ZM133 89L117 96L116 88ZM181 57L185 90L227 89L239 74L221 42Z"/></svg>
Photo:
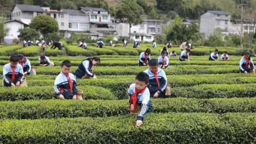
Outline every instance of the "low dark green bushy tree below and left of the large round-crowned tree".
<svg viewBox="0 0 256 144"><path fill-rule="evenodd" d="M39 38L39 32L32 28L20 28L18 32L20 33L18 37L21 40L34 40Z"/></svg>

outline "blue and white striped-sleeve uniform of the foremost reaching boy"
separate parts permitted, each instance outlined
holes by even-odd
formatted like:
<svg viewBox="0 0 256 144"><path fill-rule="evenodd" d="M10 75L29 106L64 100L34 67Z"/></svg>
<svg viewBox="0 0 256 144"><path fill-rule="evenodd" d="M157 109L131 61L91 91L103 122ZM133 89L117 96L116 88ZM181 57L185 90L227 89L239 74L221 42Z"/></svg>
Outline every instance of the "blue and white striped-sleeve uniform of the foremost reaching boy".
<svg viewBox="0 0 256 144"><path fill-rule="evenodd" d="M131 84L129 87L129 90L128 90L129 99L132 98L132 95L134 93L135 93L135 83ZM143 121L147 113L153 111L152 101L150 100L150 92L148 88L146 88L144 92L137 94L137 104L141 107L137 116L137 120Z"/></svg>

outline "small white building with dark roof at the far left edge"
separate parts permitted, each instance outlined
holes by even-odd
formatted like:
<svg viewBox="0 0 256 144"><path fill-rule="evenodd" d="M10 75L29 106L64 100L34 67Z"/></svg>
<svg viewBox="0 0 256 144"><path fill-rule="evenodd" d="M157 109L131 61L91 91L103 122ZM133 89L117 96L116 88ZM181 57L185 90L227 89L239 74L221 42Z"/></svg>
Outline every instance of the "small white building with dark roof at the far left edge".
<svg viewBox="0 0 256 144"><path fill-rule="evenodd" d="M5 22L5 25L7 28L9 28L9 32L8 32L8 35L6 37L4 37L4 42L6 44L12 44L12 41L14 39L19 39L18 38L18 35L19 35L19 32L18 30L21 28L21 29L24 29L26 27L28 27L29 25L21 22L20 20L10 20L10 21L6 21Z"/></svg>

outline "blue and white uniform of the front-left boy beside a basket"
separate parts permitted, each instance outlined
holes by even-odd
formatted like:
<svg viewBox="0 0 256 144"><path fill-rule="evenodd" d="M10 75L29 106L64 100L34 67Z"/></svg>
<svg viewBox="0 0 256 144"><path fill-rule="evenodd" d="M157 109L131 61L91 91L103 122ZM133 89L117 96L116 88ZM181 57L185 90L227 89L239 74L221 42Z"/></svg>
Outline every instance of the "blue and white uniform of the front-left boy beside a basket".
<svg viewBox="0 0 256 144"><path fill-rule="evenodd" d="M54 91L57 95L63 95L65 99L72 99L74 95L77 95L77 82L75 76L72 73L69 73L69 77L72 79L73 82L73 93L71 93L70 86L69 86L69 79L68 77L60 72L60 74L55 78L54 82Z"/></svg>

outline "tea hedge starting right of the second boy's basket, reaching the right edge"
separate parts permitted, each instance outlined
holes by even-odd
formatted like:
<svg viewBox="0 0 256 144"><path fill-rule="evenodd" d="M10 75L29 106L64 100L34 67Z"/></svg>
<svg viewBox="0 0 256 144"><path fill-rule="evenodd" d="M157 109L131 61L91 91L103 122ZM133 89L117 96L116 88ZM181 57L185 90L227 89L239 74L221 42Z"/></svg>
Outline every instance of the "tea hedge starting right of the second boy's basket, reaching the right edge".
<svg viewBox="0 0 256 144"><path fill-rule="evenodd" d="M250 84L205 84L193 87L176 87L171 90L173 97L217 98L255 97L256 83Z"/></svg>

